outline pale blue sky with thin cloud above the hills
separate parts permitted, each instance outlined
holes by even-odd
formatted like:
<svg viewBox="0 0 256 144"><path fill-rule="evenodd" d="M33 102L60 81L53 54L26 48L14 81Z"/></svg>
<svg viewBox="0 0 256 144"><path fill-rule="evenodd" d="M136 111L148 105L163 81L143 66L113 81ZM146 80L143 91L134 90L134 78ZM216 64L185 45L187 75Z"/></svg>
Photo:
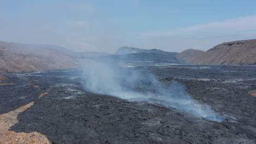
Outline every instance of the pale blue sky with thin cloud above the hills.
<svg viewBox="0 0 256 144"><path fill-rule="evenodd" d="M256 39L255 0L0 0L0 41L114 53Z"/></svg>

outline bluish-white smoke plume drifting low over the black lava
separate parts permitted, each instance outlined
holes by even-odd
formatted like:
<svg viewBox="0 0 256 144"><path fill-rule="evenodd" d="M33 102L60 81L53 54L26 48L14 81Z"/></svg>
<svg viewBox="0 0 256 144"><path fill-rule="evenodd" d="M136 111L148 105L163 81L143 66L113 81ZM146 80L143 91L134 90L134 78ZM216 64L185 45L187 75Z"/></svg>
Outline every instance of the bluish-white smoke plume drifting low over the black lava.
<svg viewBox="0 0 256 144"><path fill-rule="evenodd" d="M185 92L181 83L164 83L152 73L125 66L125 63L87 60L84 63L85 90L130 101L148 101L198 117L216 116L210 106L200 104Z"/></svg>

